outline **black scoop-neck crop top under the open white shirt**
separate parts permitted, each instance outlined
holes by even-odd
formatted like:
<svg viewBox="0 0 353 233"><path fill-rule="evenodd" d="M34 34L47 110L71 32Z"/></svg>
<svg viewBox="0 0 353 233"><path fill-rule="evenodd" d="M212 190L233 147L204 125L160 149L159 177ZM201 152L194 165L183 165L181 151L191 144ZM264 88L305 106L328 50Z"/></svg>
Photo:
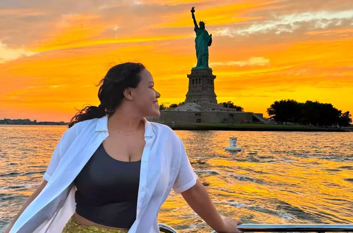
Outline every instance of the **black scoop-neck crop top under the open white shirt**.
<svg viewBox="0 0 353 233"><path fill-rule="evenodd" d="M130 228L136 219L141 160L125 162L100 144L75 179L76 212L98 224Z"/></svg>

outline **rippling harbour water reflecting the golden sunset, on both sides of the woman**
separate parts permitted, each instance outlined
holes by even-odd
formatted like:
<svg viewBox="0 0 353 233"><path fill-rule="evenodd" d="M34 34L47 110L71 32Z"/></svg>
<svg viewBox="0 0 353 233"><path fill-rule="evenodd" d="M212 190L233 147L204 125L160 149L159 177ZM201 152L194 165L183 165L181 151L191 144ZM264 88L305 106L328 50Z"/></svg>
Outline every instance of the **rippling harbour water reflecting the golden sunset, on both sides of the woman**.
<svg viewBox="0 0 353 233"><path fill-rule="evenodd" d="M0 231L42 182L66 126L0 126ZM175 131L222 216L244 223L353 222L353 133ZM225 151L238 137L241 152ZM211 228L171 191L158 221Z"/></svg>

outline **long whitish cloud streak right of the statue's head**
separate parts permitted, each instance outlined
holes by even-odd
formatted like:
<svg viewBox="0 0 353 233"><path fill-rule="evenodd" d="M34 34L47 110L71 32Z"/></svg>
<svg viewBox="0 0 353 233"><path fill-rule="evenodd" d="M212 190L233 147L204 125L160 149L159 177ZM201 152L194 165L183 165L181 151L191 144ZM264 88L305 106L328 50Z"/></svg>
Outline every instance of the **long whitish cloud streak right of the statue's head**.
<svg viewBox="0 0 353 233"><path fill-rule="evenodd" d="M309 30L315 30L340 26L342 22L346 20L349 20L350 25L352 25L353 10L336 12L306 12L300 14L272 16L272 18L272 20L267 20L261 23L253 23L249 27L245 28L218 28L214 34L234 37L235 35L244 36L255 33L291 33L303 27L306 27Z"/></svg>

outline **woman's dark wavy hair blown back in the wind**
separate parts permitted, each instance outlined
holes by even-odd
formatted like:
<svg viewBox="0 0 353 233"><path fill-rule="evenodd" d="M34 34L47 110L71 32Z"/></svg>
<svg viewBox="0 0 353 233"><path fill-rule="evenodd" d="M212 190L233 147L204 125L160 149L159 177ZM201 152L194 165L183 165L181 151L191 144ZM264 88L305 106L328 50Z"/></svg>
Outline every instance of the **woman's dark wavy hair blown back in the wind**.
<svg viewBox="0 0 353 233"><path fill-rule="evenodd" d="M79 112L71 119L69 128L78 122L101 118L106 114L111 115L124 99L124 89L137 87L141 80L140 72L143 69L146 69L144 65L135 62L123 63L110 68L96 85L102 84L98 90L99 106L86 106L82 110L75 108Z"/></svg>

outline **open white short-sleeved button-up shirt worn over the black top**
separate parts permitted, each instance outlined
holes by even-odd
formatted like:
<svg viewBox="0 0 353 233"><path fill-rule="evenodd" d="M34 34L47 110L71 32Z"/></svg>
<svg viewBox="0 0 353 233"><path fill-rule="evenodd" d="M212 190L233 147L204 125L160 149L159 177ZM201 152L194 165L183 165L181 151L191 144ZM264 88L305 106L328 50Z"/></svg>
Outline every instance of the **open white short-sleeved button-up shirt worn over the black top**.
<svg viewBox="0 0 353 233"><path fill-rule="evenodd" d="M56 145L43 178L40 194L19 216L10 233L61 233L75 212L74 180L108 137L108 115L76 123ZM182 140L169 127L145 123L136 220L129 233L159 232L157 215L171 189L181 193L196 184L197 175ZM104 168L102 168L104 169Z"/></svg>

